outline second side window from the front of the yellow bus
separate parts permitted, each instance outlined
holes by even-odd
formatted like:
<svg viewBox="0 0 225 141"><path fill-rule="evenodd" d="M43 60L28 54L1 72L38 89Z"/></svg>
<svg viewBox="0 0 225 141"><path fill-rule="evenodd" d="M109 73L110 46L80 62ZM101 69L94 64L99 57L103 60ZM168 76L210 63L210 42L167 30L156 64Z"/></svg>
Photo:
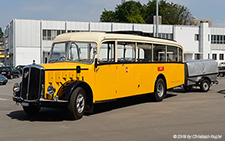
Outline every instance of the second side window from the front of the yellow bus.
<svg viewBox="0 0 225 141"><path fill-rule="evenodd" d="M135 43L118 42L117 62L135 62Z"/></svg>

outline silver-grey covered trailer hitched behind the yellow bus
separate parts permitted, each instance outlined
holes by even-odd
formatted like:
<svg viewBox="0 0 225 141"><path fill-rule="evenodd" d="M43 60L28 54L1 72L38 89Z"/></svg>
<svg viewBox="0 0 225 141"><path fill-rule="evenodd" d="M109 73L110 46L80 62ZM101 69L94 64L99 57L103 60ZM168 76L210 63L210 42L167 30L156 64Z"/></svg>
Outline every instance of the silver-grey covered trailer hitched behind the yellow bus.
<svg viewBox="0 0 225 141"><path fill-rule="evenodd" d="M200 87L207 92L217 81L218 64L215 60L191 60L185 61L185 84L183 88L188 91L193 86Z"/></svg>

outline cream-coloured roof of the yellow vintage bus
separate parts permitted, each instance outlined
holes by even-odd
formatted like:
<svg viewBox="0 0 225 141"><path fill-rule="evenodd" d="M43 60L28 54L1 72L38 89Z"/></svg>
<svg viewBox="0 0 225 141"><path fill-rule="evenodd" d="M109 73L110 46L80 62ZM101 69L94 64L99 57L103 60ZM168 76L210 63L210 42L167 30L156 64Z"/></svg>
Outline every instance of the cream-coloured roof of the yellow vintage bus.
<svg viewBox="0 0 225 141"><path fill-rule="evenodd" d="M65 42L65 41L82 41L82 42L96 42L100 43L104 40L123 40L123 41L135 41L135 42L148 42L154 44L166 44L171 46L182 46L171 40L153 38L153 37L145 37L140 35L132 35L132 34L118 34L118 33L105 33L105 32L74 32L74 33L66 33L57 36L54 39L54 42Z"/></svg>

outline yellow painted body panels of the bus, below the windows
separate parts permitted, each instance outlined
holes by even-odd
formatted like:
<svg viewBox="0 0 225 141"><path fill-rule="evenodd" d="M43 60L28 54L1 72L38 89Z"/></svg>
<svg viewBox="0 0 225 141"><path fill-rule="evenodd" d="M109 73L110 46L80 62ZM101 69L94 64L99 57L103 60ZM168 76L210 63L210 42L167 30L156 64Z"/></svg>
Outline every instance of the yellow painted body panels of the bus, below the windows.
<svg viewBox="0 0 225 141"><path fill-rule="evenodd" d="M53 85L57 92L55 95L62 96L63 93L59 91L62 84L84 81L92 89L93 102L153 93L155 81L160 74L165 76L167 89L184 84L183 63L105 64L97 68L93 64L73 62L41 65L46 70L45 86ZM74 70L77 65L87 70L77 74ZM44 98L53 99L53 97L47 93L45 87Z"/></svg>

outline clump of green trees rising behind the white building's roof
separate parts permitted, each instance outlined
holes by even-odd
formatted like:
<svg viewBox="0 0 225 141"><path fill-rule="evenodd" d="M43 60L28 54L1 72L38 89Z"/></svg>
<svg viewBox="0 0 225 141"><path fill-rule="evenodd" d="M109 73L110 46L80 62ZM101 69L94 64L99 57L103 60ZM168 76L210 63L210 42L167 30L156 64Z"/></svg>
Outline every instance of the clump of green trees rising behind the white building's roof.
<svg viewBox="0 0 225 141"><path fill-rule="evenodd" d="M115 11L104 9L100 16L101 22L123 22L123 23L150 23L150 17L156 15L156 0L141 4L136 1L122 0L121 4L116 5ZM191 12L187 7L159 1L159 15L162 16L163 24L191 24Z"/></svg>

